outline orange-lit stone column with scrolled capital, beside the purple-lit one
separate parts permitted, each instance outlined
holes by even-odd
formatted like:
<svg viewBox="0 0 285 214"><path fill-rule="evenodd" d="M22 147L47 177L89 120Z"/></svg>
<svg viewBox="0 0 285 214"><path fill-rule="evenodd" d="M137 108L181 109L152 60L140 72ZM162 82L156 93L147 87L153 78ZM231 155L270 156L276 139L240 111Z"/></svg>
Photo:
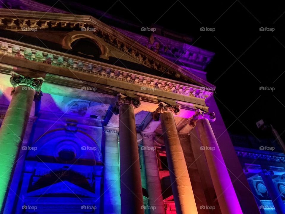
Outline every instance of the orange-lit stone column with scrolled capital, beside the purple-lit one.
<svg viewBox="0 0 285 214"><path fill-rule="evenodd" d="M172 183L177 214L198 214L188 169L180 144L173 114L178 114L180 106L171 106L160 102L153 112L153 119L161 117L161 126L166 149L167 164Z"/></svg>

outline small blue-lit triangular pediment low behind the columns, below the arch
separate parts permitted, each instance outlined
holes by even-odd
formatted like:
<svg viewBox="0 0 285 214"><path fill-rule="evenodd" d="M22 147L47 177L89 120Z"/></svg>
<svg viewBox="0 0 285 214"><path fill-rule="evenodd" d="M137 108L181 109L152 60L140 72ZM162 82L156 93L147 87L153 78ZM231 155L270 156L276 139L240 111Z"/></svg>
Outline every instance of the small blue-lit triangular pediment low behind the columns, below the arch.
<svg viewBox="0 0 285 214"><path fill-rule="evenodd" d="M96 195L84 188L81 188L69 181L61 181L26 194L26 197L36 197L49 194L75 194L94 198Z"/></svg>

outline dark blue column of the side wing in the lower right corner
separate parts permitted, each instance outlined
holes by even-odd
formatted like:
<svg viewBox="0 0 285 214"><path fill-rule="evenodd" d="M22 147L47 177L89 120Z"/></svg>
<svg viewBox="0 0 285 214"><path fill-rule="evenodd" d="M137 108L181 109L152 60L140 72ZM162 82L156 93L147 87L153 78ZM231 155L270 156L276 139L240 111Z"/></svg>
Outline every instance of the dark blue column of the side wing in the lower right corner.
<svg viewBox="0 0 285 214"><path fill-rule="evenodd" d="M285 214L285 205L281 198L281 193L278 191L273 180L271 179L271 175L273 175L273 172L263 169L259 174L262 177L262 180L264 181L266 189L275 207L276 213Z"/></svg>

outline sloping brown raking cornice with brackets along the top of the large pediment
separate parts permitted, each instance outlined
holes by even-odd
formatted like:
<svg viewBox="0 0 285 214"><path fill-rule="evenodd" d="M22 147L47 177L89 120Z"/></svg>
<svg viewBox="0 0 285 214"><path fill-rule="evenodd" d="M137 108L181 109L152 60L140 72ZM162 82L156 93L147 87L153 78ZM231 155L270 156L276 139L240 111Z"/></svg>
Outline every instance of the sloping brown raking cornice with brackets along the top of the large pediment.
<svg viewBox="0 0 285 214"><path fill-rule="evenodd" d="M22 27L40 29L70 28L76 30L82 27L96 28L95 35L103 38L105 42L145 66L176 77L190 78L195 84L214 88L214 85L209 82L193 73L189 73L186 69L149 50L92 16L7 9L0 9L0 13L0 28L9 30L20 30Z"/></svg>

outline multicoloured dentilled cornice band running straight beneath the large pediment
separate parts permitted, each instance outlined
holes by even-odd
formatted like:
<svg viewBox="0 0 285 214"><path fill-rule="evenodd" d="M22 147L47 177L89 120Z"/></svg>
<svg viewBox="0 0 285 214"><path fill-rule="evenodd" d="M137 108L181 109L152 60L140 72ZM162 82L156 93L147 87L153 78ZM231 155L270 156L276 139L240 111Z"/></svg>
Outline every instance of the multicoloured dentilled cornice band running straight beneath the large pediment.
<svg viewBox="0 0 285 214"><path fill-rule="evenodd" d="M13 43L17 43L17 45ZM110 65L108 66L106 63L76 57L77 59L82 60L80 61L71 58L72 55L69 57L69 54L63 54L58 51L53 51L54 54L52 54L50 53L50 50L46 48L40 48L34 45L30 46L32 48L27 48L22 44L23 43L21 42L0 37L0 54L12 56L16 59L27 59L31 62L50 64L58 68L66 68L69 70L97 75L99 77L136 84L142 88L145 88L145 90L159 89L175 94L196 97L203 100L206 100L213 94L213 92L202 90L201 87L198 86L189 85L178 81L171 81L170 79L166 78L158 79L158 77L154 75L147 76L145 73L133 70L128 70L127 72L120 69L120 67L113 69L110 68ZM63 55L64 57L62 57Z"/></svg>

